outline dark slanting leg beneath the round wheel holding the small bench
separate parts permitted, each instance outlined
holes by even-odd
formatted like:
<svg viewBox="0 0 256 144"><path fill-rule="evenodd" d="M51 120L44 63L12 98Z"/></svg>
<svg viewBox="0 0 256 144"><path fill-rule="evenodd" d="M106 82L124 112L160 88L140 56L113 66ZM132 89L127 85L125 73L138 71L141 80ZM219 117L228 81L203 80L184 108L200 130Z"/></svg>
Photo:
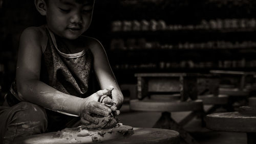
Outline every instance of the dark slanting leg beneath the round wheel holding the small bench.
<svg viewBox="0 0 256 144"><path fill-rule="evenodd" d="M170 117L169 112L163 112L161 117L158 119L156 124L153 128L160 128L160 129L170 129L175 130L180 133L180 137L187 143L191 144L198 144L198 142L186 131L184 130L177 122L174 121Z"/></svg>

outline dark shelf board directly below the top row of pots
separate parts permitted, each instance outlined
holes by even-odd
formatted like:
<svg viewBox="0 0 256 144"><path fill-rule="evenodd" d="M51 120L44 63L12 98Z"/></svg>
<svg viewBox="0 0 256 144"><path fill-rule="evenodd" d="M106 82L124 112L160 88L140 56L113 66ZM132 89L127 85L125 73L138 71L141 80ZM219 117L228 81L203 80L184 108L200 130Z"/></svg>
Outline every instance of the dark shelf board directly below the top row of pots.
<svg viewBox="0 0 256 144"><path fill-rule="evenodd" d="M177 30L177 31L120 31L112 32L112 38L154 38L163 40L242 40L256 36L256 29L226 29L226 30Z"/></svg>

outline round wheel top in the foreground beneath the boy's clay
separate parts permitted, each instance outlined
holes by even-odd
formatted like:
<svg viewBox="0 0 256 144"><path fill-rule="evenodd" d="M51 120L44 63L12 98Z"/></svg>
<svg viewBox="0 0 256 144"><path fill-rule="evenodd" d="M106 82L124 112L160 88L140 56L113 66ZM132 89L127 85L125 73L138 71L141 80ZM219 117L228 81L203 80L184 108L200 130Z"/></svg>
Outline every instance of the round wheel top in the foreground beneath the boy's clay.
<svg viewBox="0 0 256 144"><path fill-rule="evenodd" d="M127 127L127 126L124 126ZM129 126L128 126L129 127ZM36 134L28 137L19 137L14 140L14 143L24 143L24 144L46 144L46 143L180 143L179 133L172 130L166 129L153 129L153 128L133 128L134 134L125 135L122 131L113 128L112 132L106 132L103 136L98 136L97 141L93 141L93 136L82 136L82 137L72 137L61 138L57 132ZM96 139L94 139L96 140Z"/></svg>

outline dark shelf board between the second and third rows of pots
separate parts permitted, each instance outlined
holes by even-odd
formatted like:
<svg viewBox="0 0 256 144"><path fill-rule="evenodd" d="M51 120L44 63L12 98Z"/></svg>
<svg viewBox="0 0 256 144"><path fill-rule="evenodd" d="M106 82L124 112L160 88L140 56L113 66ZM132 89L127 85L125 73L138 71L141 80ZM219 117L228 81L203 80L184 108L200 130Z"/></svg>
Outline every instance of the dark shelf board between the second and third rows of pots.
<svg viewBox="0 0 256 144"><path fill-rule="evenodd" d="M254 59L256 47L253 49L138 49L112 50L108 52L110 61L115 63L143 63L161 61L219 61Z"/></svg>

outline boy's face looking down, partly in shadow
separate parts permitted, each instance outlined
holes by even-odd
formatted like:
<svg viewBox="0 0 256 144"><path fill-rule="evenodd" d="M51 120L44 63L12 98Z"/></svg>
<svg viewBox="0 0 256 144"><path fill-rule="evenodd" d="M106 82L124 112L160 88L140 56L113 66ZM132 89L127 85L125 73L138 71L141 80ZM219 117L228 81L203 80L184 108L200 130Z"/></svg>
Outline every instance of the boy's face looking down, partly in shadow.
<svg viewBox="0 0 256 144"><path fill-rule="evenodd" d="M76 39L89 28L93 7L93 1L48 0L47 25L60 37Z"/></svg>

